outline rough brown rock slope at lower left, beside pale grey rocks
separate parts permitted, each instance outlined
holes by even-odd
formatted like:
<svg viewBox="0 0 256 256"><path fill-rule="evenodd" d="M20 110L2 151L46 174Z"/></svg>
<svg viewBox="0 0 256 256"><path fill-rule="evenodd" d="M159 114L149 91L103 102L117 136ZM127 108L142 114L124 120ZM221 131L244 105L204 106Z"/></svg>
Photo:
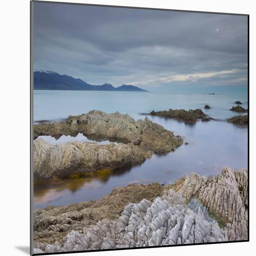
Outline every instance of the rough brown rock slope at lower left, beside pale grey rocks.
<svg viewBox="0 0 256 256"><path fill-rule="evenodd" d="M162 192L163 186L152 183L147 186L131 184L113 189L110 195L99 201L73 203L67 206L34 210L34 241L54 243L72 230L82 232L90 225L107 218L115 220L129 203L142 199L153 200Z"/></svg>

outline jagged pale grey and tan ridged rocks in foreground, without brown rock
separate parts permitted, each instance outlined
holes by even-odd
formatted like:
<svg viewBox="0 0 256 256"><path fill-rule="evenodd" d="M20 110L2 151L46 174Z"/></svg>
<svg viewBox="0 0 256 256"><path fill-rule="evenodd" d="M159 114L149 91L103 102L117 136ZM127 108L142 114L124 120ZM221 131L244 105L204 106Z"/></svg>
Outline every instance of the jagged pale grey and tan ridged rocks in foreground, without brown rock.
<svg viewBox="0 0 256 256"><path fill-rule="evenodd" d="M158 187L159 196L152 201L129 203L117 219L101 219L91 227L72 230L51 245L35 242L34 247L64 252L247 240L247 178L246 169L227 167L215 177L188 175L175 184ZM222 217L225 225L209 222L201 209L197 214L189 209L191 198L198 198L215 216Z"/></svg>

